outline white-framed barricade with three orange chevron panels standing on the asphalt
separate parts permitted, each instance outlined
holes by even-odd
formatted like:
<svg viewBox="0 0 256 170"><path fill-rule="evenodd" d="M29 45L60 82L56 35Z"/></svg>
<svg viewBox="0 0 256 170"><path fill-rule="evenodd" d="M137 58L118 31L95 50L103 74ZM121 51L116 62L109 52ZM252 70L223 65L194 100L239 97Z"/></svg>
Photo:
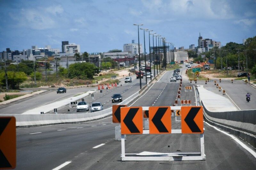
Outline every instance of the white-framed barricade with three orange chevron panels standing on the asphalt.
<svg viewBox="0 0 256 170"><path fill-rule="evenodd" d="M140 123L142 123L142 110L143 111L148 110L149 121L151 123L149 126L149 130L143 130L142 129L143 127L141 127L140 129ZM181 129L171 128L171 110L180 110L180 112L182 112L181 123L183 123L183 125L181 124ZM168 128L170 131L168 131ZM204 127L203 127L203 108L202 107L184 107L184 106L182 107L180 106L122 107L121 108L121 129L123 129L123 133L121 135L121 150L122 150L121 160L122 161L182 161L182 160L205 160L206 159L206 156L204 154ZM193 153L140 152L140 153L125 154L124 134L159 134L159 133L160 134L168 133L169 135L171 135L172 133L178 133L178 134L181 134L181 133L198 134L199 133L200 152L193 152Z"/></svg>

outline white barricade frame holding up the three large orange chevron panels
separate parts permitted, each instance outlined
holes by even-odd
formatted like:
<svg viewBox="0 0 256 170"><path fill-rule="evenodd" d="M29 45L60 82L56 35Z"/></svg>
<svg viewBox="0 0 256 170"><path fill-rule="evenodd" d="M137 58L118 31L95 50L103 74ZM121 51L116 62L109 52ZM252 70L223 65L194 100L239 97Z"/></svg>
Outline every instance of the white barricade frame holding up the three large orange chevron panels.
<svg viewBox="0 0 256 170"><path fill-rule="evenodd" d="M148 110L149 107L142 107L142 110ZM173 110L180 110L180 106L172 106ZM181 133L181 129L172 129L172 133ZM149 130L143 130L142 134L149 134ZM159 153L159 152L141 152L125 153L125 135L121 135L121 160L122 161L182 161L182 160L205 160L204 154L204 133L200 135L200 152L185 153Z"/></svg>

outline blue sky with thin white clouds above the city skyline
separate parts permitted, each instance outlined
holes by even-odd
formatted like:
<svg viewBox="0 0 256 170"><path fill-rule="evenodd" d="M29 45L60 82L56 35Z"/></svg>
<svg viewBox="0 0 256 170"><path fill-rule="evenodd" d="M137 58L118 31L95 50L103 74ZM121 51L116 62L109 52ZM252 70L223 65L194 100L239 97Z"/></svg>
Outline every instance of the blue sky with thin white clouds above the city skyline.
<svg viewBox="0 0 256 170"><path fill-rule="evenodd" d="M176 48L197 46L199 32L222 45L256 36L256 0L0 0L0 4L0 51L32 45L61 49L61 41L80 44L82 52L123 50L123 44L138 42L135 23ZM144 43L142 30L140 43Z"/></svg>

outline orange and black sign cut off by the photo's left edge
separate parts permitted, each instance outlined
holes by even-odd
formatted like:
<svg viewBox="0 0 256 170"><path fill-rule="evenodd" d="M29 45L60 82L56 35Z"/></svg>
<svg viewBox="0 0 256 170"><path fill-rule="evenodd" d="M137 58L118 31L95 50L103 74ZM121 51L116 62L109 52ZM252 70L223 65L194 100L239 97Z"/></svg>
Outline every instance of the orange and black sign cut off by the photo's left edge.
<svg viewBox="0 0 256 170"><path fill-rule="evenodd" d="M0 117L0 169L16 167L16 119Z"/></svg>

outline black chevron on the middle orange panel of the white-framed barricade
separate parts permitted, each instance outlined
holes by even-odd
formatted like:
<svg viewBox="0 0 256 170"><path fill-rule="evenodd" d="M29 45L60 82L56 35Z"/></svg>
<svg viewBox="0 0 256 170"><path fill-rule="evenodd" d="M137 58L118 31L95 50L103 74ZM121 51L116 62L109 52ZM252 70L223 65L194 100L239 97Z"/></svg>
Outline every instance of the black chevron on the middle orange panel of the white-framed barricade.
<svg viewBox="0 0 256 170"><path fill-rule="evenodd" d="M161 121L161 119L164 116L166 110L167 110L167 107L158 108L158 110L156 111L155 116L152 118L152 122L155 124L156 129L159 132L168 132L168 130L165 128L163 122Z"/></svg>

